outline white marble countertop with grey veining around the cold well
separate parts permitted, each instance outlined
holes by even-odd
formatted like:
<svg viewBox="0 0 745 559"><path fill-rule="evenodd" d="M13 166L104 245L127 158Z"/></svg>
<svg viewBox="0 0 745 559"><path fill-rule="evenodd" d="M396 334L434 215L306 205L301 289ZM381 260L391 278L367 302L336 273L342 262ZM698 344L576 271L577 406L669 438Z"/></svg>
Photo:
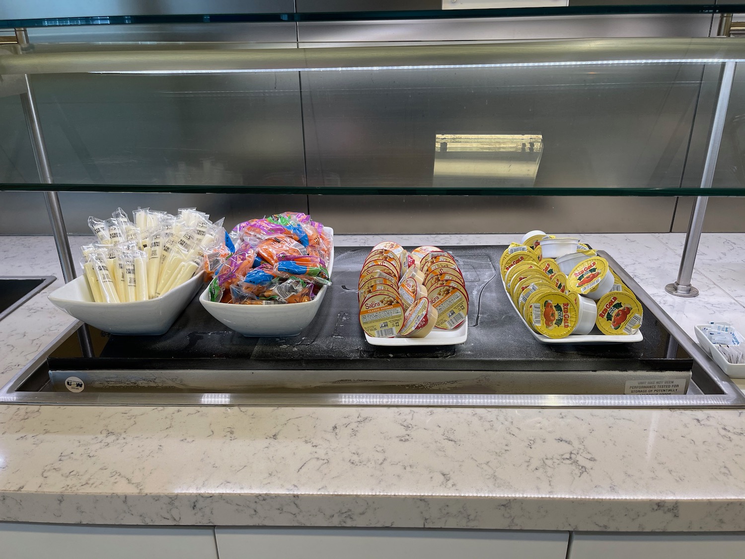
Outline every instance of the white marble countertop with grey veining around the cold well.
<svg viewBox="0 0 745 559"><path fill-rule="evenodd" d="M583 238L689 333L713 318L745 331L745 259L728 250L745 235L704 236L696 300L663 291L682 236ZM0 237L0 275L19 274L60 277L50 238ZM2 384L72 325L46 299L57 285L0 320ZM745 531L745 411L0 405L13 520Z"/></svg>

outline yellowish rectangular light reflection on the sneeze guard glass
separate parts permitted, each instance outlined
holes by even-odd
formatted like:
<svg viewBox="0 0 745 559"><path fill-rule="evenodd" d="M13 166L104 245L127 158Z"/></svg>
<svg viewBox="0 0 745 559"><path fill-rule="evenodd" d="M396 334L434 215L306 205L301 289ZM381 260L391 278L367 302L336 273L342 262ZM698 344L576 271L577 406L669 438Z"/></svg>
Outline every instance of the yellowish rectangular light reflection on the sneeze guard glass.
<svg viewBox="0 0 745 559"><path fill-rule="evenodd" d="M541 134L437 134L432 186L533 186L542 153Z"/></svg>

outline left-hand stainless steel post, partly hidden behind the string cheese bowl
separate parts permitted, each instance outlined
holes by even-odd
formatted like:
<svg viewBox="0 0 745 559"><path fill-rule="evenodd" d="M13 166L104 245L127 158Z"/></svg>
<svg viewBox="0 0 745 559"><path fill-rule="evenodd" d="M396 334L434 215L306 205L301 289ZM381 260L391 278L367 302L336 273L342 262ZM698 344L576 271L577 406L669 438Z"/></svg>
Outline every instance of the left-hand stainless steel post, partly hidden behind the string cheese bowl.
<svg viewBox="0 0 745 559"><path fill-rule="evenodd" d="M28 46L28 34L25 29L16 29L16 40L21 48ZM51 167L46 153L44 133L42 132L42 125L39 120L34 89L31 87L31 81L28 79L28 75L24 75L23 79L26 92L21 94L21 104L26 117L26 124L28 125L28 135L31 136L31 146L34 148L34 160L37 163L39 180L45 184L52 184L54 181L51 176ZM51 222L52 234L54 235L54 244L57 246L57 256L59 256L60 265L62 266L62 276L65 282L71 282L77 274L75 274L75 261L72 259L70 242L67 238L67 228L65 227L65 220L62 215L62 206L60 206L60 198L57 196L57 192L47 190L44 192L44 200L47 206L49 221ZM92 357L93 344L87 326L83 325L78 330L77 337L80 340L80 349L83 351L83 356Z"/></svg>

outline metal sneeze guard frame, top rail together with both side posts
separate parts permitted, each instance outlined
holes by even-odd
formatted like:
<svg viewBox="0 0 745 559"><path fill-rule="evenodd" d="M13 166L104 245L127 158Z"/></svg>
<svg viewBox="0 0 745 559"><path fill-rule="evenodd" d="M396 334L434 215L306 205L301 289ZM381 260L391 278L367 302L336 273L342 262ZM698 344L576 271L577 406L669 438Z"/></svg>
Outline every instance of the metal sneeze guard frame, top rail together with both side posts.
<svg viewBox="0 0 745 559"><path fill-rule="evenodd" d="M284 48L241 50L168 50L152 48L105 51L34 52L25 29L16 30L21 48L0 57L0 75L21 75L22 101L42 183L53 183L29 75L55 73L201 74L229 72L323 72L361 69L448 69L531 66L578 66L631 63L721 63L717 109L709 134L701 188L710 188L722 139L735 66L745 61L745 45L727 39L559 40L478 45ZM655 56L650 57L654 52ZM57 192L45 192L57 252L66 281L75 266ZM685 250L676 282L668 292L695 297L691 286L708 198L699 197L691 214ZM89 341L81 344L90 350Z"/></svg>

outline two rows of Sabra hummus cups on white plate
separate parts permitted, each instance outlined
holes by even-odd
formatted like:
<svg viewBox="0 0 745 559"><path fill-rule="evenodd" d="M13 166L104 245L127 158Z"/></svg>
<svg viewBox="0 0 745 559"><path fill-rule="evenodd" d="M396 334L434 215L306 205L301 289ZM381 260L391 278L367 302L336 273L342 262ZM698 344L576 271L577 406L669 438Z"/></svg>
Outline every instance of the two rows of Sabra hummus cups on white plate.
<svg viewBox="0 0 745 559"><path fill-rule="evenodd" d="M424 338L468 317L469 294L457 262L438 247L384 241L373 247L358 282L360 324L373 338Z"/></svg>

